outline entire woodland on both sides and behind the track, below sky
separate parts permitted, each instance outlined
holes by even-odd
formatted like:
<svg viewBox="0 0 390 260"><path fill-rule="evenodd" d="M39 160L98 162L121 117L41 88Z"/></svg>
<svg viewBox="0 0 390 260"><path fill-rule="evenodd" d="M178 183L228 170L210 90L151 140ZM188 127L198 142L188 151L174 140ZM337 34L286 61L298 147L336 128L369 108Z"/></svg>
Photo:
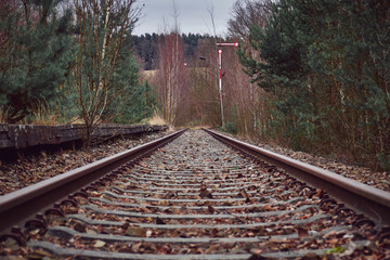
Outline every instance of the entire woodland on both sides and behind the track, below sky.
<svg viewBox="0 0 390 260"><path fill-rule="evenodd" d="M224 37L134 36L134 3L0 0L0 121L159 115L390 170L389 1L237 0Z"/></svg>

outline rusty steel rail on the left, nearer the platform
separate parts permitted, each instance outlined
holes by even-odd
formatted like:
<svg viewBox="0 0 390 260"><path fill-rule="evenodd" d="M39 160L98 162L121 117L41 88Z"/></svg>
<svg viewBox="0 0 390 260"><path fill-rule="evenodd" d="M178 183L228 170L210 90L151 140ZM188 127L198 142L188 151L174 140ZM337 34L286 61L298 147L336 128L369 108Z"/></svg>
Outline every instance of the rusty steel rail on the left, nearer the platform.
<svg viewBox="0 0 390 260"><path fill-rule="evenodd" d="M69 194L79 191L130 160L166 145L184 131L177 131L161 139L1 196L0 234L34 217L38 211L51 207L55 202L66 199Z"/></svg>

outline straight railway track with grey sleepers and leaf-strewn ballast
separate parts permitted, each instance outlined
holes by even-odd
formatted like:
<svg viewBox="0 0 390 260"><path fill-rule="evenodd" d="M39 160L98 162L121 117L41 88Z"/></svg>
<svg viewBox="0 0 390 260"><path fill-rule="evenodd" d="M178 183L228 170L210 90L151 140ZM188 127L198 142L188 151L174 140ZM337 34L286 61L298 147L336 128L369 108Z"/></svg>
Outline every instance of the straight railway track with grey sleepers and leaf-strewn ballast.
<svg viewBox="0 0 390 260"><path fill-rule="evenodd" d="M210 134L222 140L214 132ZM306 169L308 166L286 158L277 162L277 156L266 153L261 160L252 158L261 151L223 139L229 145L244 150L243 155L204 131L178 132L169 138L117 156L116 162L105 166L105 170L100 167L108 159L95 164L93 169L87 167L87 171L101 177L87 187L82 186L92 177L87 178L81 170L73 172L80 179L74 177L68 181L72 188L67 184L41 184L56 195L50 195L52 198L39 206L27 207L37 199L47 199L39 186L0 198L1 230L8 232L2 237L0 256L38 259L390 257L386 227L390 221L387 219L389 193L364 185L356 187L356 183L346 184L346 180L337 184L334 180L337 178L318 181L322 176L314 174L314 168ZM171 143L161 147L167 142ZM150 153L150 147L158 150ZM273 160L278 167L264 160ZM291 170L296 177L282 168ZM312 171L315 178L303 177L308 172L302 171ZM320 186L309 186L296 178ZM64 199L66 190L72 190L67 193L72 195ZM355 193L363 193L354 197L360 203L351 199ZM369 219L333 197L344 200ZM24 202L20 202L22 198ZM47 208L54 202L60 203ZM22 216L21 208L31 209ZM46 213L28 221L26 227L11 229L10 233L11 224L25 221L25 216L38 208Z"/></svg>

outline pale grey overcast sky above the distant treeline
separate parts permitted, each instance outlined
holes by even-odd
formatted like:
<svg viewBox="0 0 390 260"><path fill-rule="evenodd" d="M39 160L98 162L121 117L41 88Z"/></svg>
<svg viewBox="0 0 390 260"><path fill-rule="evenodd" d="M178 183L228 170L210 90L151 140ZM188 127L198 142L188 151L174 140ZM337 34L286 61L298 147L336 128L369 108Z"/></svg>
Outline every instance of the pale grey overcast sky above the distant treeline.
<svg viewBox="0 0 390 260"><path fill-rule="evenodd" d="M179 11L179 28L183 34L213 35L208 10L213 6L217 36L225 36L230 11L236 0L176 0ZM139 0L143 17L138 23L134 35L165 32L174 27L173 0Z"/></svg>

